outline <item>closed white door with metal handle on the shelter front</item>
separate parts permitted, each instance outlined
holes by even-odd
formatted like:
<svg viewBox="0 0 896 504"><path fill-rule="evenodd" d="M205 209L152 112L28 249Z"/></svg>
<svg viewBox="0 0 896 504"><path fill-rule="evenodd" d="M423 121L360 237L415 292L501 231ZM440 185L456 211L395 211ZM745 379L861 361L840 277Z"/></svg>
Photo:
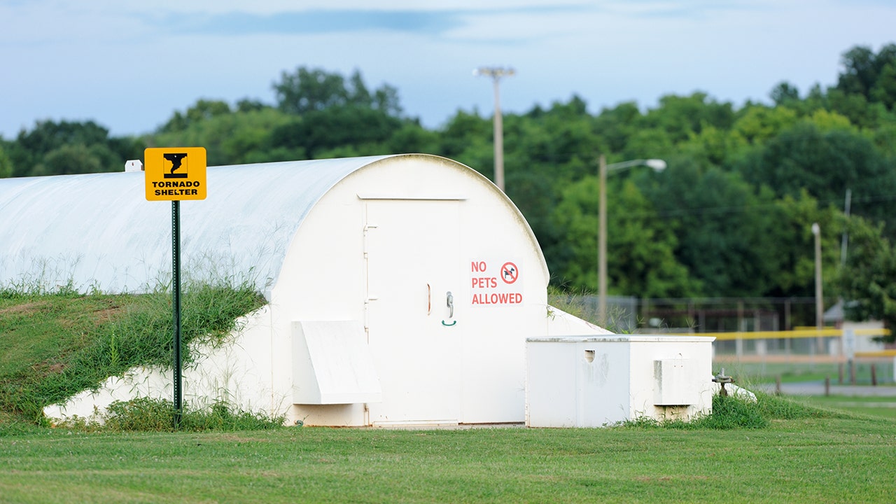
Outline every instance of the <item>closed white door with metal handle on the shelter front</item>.
<svg viewBox="0 0 896 504"><path fill-rule="evenodd" d="M461 421L461 204L366 201L367 341L383 389L371 424Z"/></svg>

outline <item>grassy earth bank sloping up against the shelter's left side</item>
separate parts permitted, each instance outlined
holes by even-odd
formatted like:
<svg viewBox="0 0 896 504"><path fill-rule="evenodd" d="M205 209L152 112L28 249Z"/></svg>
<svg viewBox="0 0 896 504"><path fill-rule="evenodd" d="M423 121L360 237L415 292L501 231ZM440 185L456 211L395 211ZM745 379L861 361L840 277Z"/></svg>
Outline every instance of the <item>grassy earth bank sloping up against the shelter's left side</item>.
<svg viewBox="0 0 896 504"><path fill-rule="evenodd" d="M244 285L193 284L182 296L182 342L220 341L263 298ZM0 423L42 421L43 407L138 365L173 365L171 296L0 291Z"/></svg>

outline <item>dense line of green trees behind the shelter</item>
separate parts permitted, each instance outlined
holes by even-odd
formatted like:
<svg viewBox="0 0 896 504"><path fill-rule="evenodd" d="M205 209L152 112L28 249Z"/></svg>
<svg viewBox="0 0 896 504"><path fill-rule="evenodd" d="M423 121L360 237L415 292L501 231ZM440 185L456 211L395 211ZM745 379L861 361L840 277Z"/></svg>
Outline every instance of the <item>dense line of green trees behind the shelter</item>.
<svg viewBox="0 0 896 504"><path fill-rule="evenodd" d="M0 177L115 171L166 145L204 146L210 166L426 152L493 176L492 117L478 110L428 129L404 114L398 90L371 90L358 71L298 67L271 87L272 104L197 100L139 137L111 137L92 121L39 121L0 138ZM852 300L857 317L896 322L896 225L886 219L896 212L896 45L851 48L836 84L782 82L770 99L737 108L698 91L592 114L573 96L505 114L506 192L552 283L597 288L599 154L659 158L662 172L608 178L611 294L813 296L817 222L825 292Z"/></svg>

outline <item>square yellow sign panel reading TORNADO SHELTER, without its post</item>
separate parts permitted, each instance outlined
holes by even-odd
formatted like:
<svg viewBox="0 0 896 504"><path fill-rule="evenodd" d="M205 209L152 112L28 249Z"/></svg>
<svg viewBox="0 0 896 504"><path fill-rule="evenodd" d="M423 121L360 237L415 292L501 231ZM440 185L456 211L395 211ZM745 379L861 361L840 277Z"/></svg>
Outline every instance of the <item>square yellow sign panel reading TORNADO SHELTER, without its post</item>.
<svg viewBox="0 0 896 504"><path fill-rule="evenodd" d="M205 199L205 147L153 147L143 151L146 199Z"/></svg>

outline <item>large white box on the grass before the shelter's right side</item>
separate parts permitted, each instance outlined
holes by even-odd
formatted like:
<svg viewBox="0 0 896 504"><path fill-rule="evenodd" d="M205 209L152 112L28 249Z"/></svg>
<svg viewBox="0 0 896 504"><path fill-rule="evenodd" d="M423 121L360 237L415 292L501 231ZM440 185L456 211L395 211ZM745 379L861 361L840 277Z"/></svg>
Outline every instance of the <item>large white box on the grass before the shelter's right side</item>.
<svg viewBox="0 0 896 504"><path fill-rule="evenodd" d="M712 412L704 336L590 335L526 341L526 424L601 427Z"/></svg>

